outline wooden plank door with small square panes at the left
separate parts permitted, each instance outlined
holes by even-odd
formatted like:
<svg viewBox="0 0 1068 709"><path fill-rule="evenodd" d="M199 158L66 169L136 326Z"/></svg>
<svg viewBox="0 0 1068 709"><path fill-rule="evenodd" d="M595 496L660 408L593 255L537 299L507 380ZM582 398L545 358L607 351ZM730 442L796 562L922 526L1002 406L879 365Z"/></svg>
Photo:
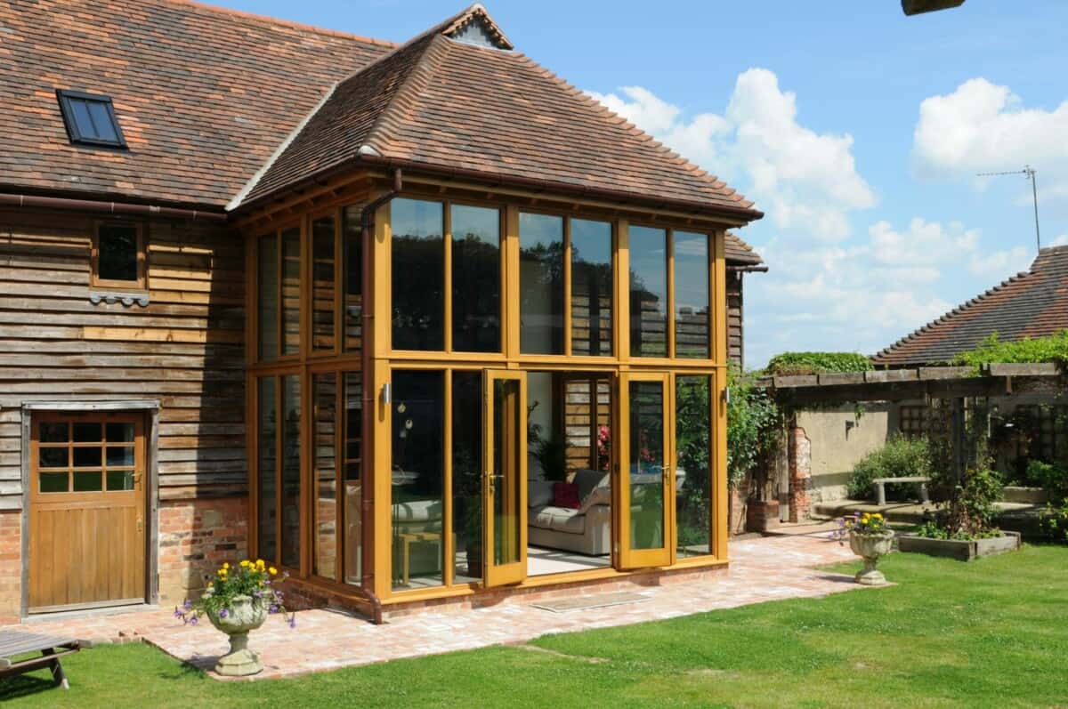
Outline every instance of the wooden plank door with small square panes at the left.
<svg viewBox="0 0 1068 709"><path fill-rule="evenodd" d="M145 483L143 415L34 415L31 613L144 602Z"/></svg>

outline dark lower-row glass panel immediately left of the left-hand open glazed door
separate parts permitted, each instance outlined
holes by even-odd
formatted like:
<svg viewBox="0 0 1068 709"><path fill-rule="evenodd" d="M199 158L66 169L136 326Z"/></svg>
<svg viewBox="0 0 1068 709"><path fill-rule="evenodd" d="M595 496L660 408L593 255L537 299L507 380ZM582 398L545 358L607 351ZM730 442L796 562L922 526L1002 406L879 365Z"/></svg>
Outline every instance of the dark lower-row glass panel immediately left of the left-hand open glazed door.
<svg viewBox="0 0 1068 709"><path fill-rule="evenodd" d="M453 372L456 581L482 579L482 373Z"/></svg>

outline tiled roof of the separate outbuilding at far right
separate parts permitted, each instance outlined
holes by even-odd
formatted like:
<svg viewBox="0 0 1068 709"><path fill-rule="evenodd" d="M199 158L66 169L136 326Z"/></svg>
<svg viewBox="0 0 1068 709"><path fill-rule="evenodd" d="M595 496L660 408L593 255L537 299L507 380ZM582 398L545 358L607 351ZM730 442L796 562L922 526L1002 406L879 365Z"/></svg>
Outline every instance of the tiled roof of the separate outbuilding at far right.
<svg viewBox="0 0 1068 709"><path fill-rule="evenodd" d="M871 358L876 364L946 362L991 333L1003 342L1068 329L1068 247L1042 249L1031 269L958 305Z"/></svg>

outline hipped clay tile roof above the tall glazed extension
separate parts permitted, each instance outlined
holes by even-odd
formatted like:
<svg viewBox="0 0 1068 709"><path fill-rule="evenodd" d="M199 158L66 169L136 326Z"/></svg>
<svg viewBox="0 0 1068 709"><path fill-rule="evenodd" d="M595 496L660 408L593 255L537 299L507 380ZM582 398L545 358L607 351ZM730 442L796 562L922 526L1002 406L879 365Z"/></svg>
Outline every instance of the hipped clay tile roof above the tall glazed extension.
<svg viewBox="0 0 1068 709"><path fill-rule="evenodd" d="M339 83L241 206L363 160L760 217L527 57L442 34L471 13L496 27L473 5Z"/></svg>

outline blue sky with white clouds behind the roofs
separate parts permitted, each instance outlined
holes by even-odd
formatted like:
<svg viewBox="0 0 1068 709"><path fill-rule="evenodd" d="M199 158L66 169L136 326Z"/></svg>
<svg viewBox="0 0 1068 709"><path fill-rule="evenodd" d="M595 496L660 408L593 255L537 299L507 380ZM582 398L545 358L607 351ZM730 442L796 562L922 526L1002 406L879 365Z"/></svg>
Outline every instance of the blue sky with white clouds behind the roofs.
<svg viewBox="0 0 1068 709"><path fill-rule="evenodd" d="M224 0L404 41L429 0ZM747 365L871 353L1068 243L1068 2L487 1L517 49L726 179L767 212L741 232Z"/></svg>

